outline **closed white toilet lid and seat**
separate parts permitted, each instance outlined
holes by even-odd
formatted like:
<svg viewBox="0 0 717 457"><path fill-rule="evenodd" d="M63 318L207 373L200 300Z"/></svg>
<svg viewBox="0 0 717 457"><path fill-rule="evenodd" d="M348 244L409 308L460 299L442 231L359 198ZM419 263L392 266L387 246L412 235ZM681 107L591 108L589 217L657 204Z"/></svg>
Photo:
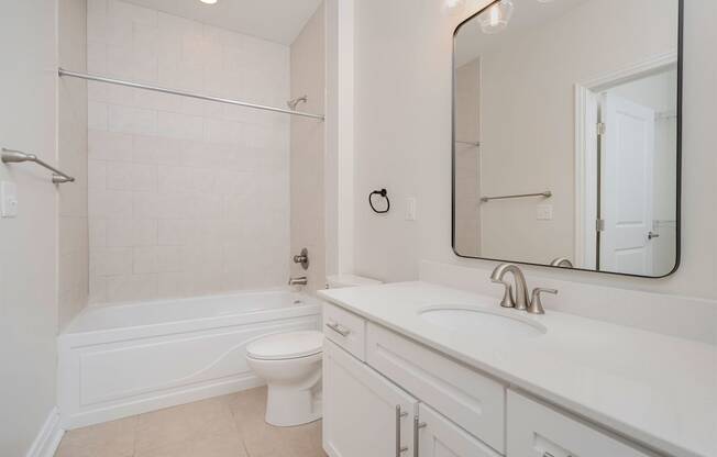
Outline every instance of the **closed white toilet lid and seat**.
<svg viewBox="0 0 717 457"><path fill-rule="evenodd" d="M277 333L256 339L246 346L246 354L263 360L282 360L308 357L321 353L323 334L321 332Z"/></svg>

